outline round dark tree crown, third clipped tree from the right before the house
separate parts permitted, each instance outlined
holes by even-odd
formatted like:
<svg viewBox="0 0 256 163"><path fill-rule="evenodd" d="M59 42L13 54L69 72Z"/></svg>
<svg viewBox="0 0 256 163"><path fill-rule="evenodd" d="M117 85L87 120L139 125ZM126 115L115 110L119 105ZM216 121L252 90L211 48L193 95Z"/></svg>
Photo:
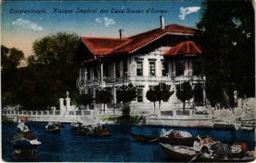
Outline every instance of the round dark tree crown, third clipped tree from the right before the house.
<svg viewBox="0 0 256 163"><path fill-rule="evenodd" d="M122 102L123 104L129 103L136 99L137 90L135 86L129 84L128 86L123 85L117 90L117 102Z"/></svg>

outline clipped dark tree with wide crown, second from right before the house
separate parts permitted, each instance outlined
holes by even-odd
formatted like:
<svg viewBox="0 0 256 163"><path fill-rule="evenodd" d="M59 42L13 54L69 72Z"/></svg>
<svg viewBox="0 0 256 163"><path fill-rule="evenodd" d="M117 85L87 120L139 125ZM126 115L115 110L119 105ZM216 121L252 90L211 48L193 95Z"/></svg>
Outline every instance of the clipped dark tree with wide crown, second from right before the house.
<svg viewBox="0 0 256 163"><path fill-rule="evenodd" d="M159 102L159 109L161 106L161 100L167 101L168 99L170 99L170 96L174 94L174 90L170 91L170 86L166 85L166 83L164 82L160 82L157 86L154 86L152 91L157 97L157 99L153 100Z"/></svg>

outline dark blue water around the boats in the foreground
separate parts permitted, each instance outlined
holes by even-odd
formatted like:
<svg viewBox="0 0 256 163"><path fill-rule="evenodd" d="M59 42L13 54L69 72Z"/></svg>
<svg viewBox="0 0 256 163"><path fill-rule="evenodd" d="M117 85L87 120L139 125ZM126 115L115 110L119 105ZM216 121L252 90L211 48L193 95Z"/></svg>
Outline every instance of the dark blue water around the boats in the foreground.
<svg viewBox="0 0 256 163"><path fill-rule="evenodd" d="M132 133L159 135L161 127L152 126L109 126L113 132L111 138L78 137L75 130L64 125L60 134L46 133L46 123L29 122L29 129L42 142L39 150L39 161L143 161L162 162L170 160L158 144L139 143L130 137ZM12 144L10 139L15 133L15 124L2 124L2 159L12 161ZM170 129L170 128L166 128ZM254 149L254 131L231 131L175 128L187 130L193 135L209 135L225 143L245 142Z"/></svg>

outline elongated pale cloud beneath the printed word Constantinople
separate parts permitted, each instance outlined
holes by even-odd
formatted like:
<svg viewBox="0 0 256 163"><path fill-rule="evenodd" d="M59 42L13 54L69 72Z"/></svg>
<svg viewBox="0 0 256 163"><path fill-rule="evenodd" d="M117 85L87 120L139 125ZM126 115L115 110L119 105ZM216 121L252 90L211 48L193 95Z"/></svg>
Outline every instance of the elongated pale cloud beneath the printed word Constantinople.
<svg viewBox="0 0 256 163"><path fill-rule="evenodd" d="M37 23L33 23L32 21L24 20L22 18L19 18L19 19L13 21L11 24L16 25L16 26L20 26L24 29L32 29L34 31L42 31L42 29L43 29Z"/></svg>

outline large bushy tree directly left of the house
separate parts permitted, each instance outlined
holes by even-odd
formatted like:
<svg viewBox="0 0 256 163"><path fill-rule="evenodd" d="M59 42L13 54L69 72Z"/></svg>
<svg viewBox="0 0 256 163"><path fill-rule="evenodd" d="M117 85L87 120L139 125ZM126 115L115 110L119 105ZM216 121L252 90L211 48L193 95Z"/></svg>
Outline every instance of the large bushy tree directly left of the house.
<svg viewBox="0 0 256 163"><path fill-rule="evenodd" d="M75 33L53 33L33 42L34 55L27 59L23 80L16 94L25 108L58 104L67 90L77 97L78 68L72 62L79 37Z"/></svg>

